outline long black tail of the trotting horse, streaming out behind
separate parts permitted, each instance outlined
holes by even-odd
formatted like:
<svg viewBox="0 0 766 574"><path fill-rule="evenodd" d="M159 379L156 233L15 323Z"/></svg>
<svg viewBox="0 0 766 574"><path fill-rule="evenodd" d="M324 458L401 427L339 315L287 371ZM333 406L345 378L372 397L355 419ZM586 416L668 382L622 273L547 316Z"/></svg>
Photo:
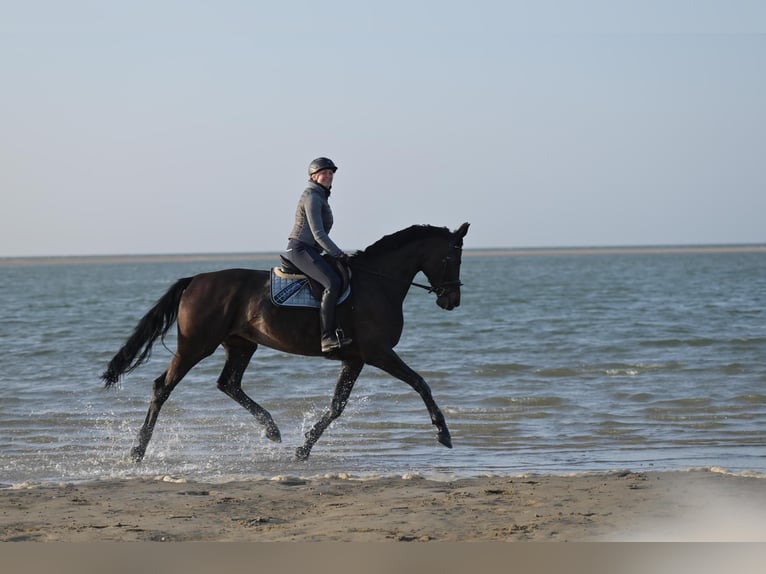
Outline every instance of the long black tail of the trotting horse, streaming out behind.
<svg viewBox="0 0 766 574"><path fill-rule="evenodd" d="M168 292L160 297L156 305L144 315L144 318L138 322L135 331L128 341L117 351L117 354L109 361L101 378L104 380L106 388L114 385L120 376L129 373L143 362L145 362L152 351L152 345L157 337L165 337L168 329L173 325L178 317L178 305L181 302L181 295L189 286L194 277L184 277L175 282L168 289ZM143 347L143 350L141 350ZM139 355L140 352L140 355ZM138 359L136 359L136 355Z"/></svg>

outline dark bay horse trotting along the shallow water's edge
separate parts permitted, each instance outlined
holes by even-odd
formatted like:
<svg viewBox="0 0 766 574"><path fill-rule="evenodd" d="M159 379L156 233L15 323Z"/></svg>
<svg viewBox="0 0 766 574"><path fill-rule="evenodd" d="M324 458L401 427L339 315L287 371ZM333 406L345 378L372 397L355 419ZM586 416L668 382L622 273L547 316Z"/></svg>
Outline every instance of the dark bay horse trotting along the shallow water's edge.
<svg viewBox="0 0 766 574"><path fill-rule="evenodd" d="M330 408L306 433L296 450L305 460L311 448L346 406L362 367L372 365L409 384L428 409L438 431L438 441L452 447L447 423L423 378L394 352L404 326L402 304L411 285L436 294L436 303L447 310L460 305L460 263L464 223L454 232L446 227L415 225L387 235L350 258L352 291L338 307L337 320L353 339L334 358L342 363ZM423 272L429 286L413 283ZM121 375L146 361L158 337L178 323L175 355L167 370L154 381L149 412L131 455L140 461L162 405L189 370L219 345L226 361L218 388L252 413L265 427L266 436L281 440L271 414L242 390L242 375L258 348L297 355L321 356L319 315L316 309L280 307L271 300L269 271L226 269L179 279L141 319L135 331L110 361L102 375L111 387Z"/></svg>

